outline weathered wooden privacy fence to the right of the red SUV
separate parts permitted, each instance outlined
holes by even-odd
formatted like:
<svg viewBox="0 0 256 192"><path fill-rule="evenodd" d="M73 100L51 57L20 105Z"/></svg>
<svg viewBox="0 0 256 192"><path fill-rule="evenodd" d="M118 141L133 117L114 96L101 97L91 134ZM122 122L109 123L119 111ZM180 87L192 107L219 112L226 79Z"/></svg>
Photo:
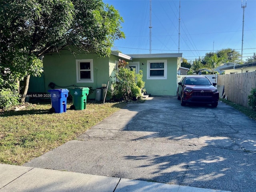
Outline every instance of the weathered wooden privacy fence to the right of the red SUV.
<svg viewBox="0 0 256 192"><path fill-rule="evenodd" d="M218 85L224 85L228 100L249 107L248 96L252 88L256 88L256 71L218 75Z"/></svg>

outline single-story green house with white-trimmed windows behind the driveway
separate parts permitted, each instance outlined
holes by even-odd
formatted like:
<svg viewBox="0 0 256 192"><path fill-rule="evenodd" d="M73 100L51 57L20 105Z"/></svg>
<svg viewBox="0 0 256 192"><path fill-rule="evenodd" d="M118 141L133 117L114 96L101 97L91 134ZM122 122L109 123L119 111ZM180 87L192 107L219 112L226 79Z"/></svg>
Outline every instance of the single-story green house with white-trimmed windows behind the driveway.
<svg viewBox="0 0 256 192"><path fill-rule="evenodd" d="M91 87L115 81L114 70L119 59L128 62L136 72L142 70L146 92L154 96L175 96L177 70L182 53L166 54L122 54L111 52L110 57L100 58L96 54L71 54L68 50L44 56L44 82L46 92L53 83L55 88ZM95 98L95 92L90 96Z"/></svg>

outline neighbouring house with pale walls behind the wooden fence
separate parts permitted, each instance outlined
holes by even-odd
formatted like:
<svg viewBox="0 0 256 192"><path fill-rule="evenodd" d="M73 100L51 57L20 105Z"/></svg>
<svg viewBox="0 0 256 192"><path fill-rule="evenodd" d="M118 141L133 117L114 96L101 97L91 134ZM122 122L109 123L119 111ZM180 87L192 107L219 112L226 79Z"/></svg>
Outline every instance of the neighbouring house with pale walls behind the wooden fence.
<svg viewBox="0 0 256 192"><path fill-rule="evenodd" d="M225 71L225 74L253 72L256 71L256 62L246 64L236 64L228 62L221 66L220 70Z"/></svg>

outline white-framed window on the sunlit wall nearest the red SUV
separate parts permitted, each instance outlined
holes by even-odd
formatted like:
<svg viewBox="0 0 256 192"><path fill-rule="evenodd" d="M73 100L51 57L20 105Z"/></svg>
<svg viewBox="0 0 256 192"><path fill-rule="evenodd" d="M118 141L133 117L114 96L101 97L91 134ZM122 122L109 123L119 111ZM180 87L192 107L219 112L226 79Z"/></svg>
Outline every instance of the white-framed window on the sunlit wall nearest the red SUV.
<svg viewBox="0 0 256 192"><path fill-rule="evenodd" d="M148 60L147 79L167 79L167 60Z"/></svg>

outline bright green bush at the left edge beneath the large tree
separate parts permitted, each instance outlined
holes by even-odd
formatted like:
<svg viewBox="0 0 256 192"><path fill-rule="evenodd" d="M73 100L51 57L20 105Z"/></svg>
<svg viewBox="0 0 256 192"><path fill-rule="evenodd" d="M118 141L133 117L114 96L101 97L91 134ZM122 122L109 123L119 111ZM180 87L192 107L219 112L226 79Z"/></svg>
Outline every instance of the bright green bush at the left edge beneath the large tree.
<svg viewBox="0 0 256 192"><path fill-rule="evenodd" d="M14 92L10 89L0 90L0 108L6 109L12 105L18 105L19 99L18 94L14 94Z"/></svg>

